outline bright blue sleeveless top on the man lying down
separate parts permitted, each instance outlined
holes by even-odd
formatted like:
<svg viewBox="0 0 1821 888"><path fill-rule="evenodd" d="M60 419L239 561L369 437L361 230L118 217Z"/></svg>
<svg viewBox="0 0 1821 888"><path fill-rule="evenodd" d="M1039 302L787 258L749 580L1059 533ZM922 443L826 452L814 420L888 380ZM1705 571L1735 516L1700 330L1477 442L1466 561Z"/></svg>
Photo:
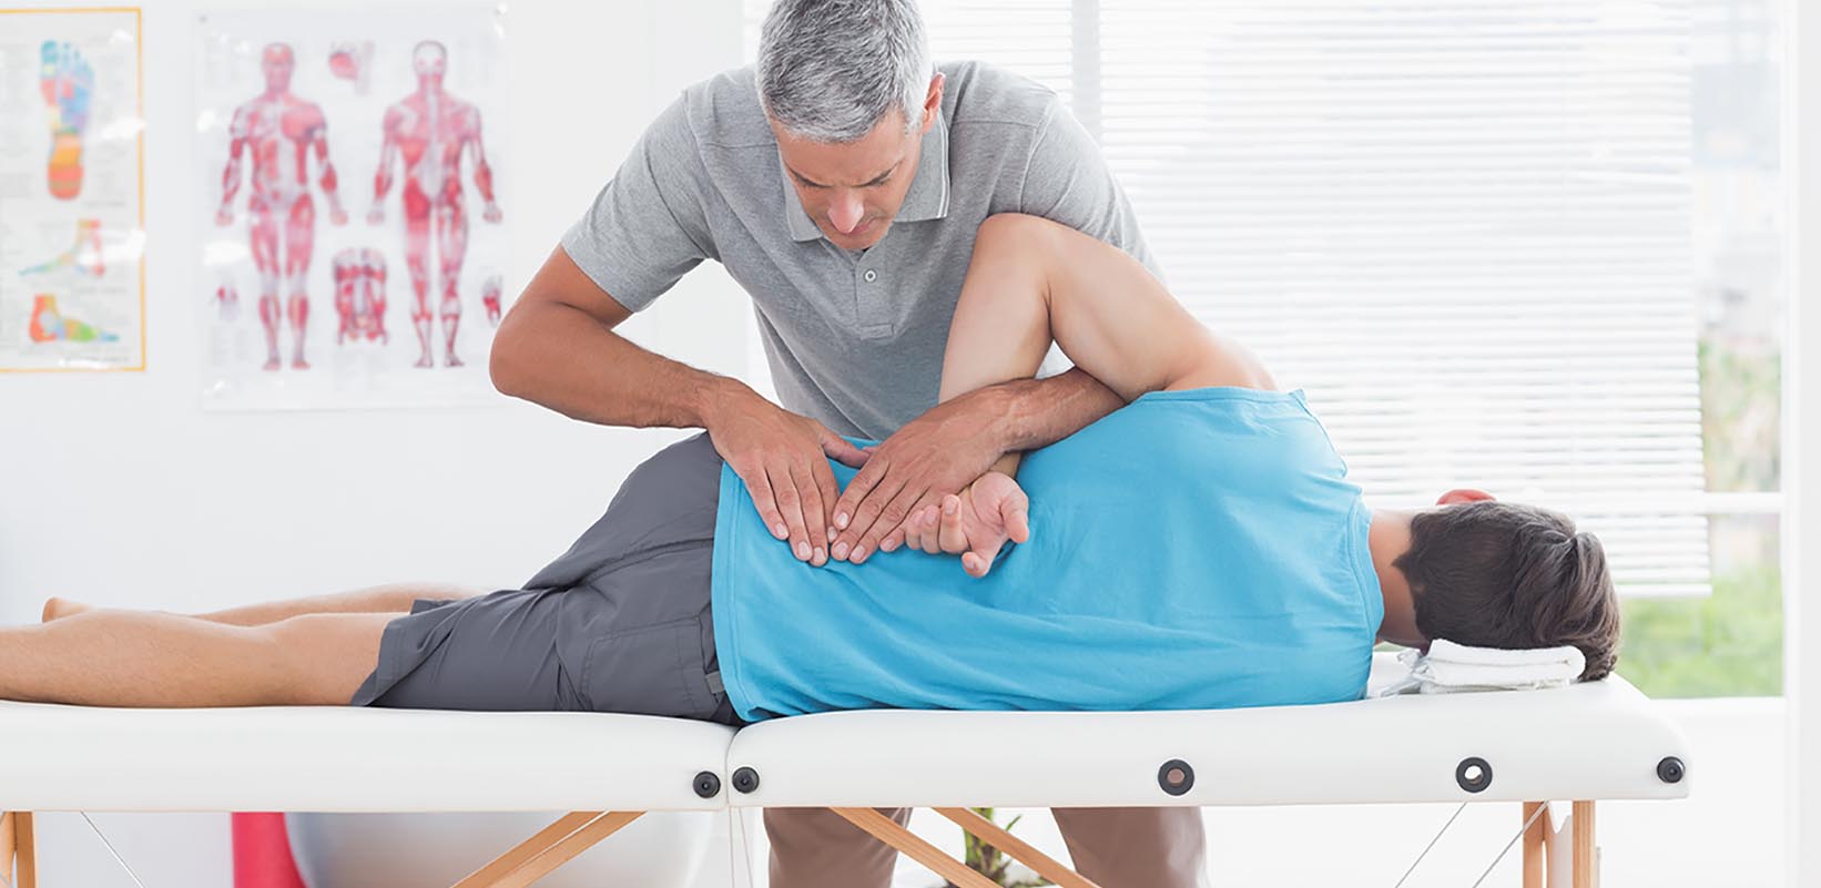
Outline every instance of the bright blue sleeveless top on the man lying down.
<svg viewBox="0 0 1821 888"><path fill-rule="evenodd" d="M834 464L845 486L854 475ZM714 633L747 721L829 710L1215 710L1358 699L1371 511L1300 391L1153 391L1029 453L1031 539L796 560L721 471Z"/></svg>

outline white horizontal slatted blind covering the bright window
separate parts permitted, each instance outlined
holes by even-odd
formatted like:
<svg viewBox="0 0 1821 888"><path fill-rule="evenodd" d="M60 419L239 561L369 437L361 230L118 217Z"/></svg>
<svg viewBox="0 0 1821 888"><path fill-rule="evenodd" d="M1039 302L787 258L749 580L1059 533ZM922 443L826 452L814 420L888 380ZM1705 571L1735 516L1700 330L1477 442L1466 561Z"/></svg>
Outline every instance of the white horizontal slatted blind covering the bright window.
<svg viewBox="0 0 1821 888"><path fill-rule="evenodd" d="M1307 391L1375 506L1484 488L1599 533L1626 593L1706 593L1688 0L925 16L1085 111L1171 291Z"/></svg>

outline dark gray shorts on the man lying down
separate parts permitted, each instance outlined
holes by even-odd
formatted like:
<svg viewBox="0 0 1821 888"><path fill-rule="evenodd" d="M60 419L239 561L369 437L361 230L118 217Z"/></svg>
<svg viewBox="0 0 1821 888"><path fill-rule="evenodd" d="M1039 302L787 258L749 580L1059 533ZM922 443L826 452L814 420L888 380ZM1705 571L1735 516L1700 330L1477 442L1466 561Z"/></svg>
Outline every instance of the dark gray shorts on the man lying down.
<svg viewBox="0 0 1821 888"><path fill-rule="evenodd" d="M577 710L741 724L708 608L721 457L708 435L632 469L606 515L523 590L386 624L353 706Z"/></svg>

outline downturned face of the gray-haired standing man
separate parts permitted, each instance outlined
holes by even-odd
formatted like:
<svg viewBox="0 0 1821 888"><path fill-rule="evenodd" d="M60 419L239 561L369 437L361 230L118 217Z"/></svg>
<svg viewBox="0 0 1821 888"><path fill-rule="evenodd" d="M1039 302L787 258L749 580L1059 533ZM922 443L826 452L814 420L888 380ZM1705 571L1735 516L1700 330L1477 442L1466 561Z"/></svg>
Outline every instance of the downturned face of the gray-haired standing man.
<svg viewBox="0 0 1821 888"><path fill-rule="evenodd" d="M803 211L841 249L878 244L898 217L923 156L923 133L941 107L941 75L929 82L921 126L905 133L903 111L881 118L858 142L814 142L772 122L785 177Z"/></svg>

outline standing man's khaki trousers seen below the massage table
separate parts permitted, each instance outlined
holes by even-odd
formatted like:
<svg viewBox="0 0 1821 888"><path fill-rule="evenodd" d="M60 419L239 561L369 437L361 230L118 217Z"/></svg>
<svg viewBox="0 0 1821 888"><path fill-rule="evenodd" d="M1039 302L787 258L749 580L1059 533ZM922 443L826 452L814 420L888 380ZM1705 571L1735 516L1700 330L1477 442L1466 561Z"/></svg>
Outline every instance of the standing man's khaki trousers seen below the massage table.
<svg viewBox="0 0 1821 888"><path fill-rule="evenodd" d="M909 808L880 810L900 824ZM1206 888L1200 808L1051 808L1074 870L1102 888ZM770 888L887 888L898 852L823 808L767 808ZM960 857L958 850L951 850Z"/></svg>

